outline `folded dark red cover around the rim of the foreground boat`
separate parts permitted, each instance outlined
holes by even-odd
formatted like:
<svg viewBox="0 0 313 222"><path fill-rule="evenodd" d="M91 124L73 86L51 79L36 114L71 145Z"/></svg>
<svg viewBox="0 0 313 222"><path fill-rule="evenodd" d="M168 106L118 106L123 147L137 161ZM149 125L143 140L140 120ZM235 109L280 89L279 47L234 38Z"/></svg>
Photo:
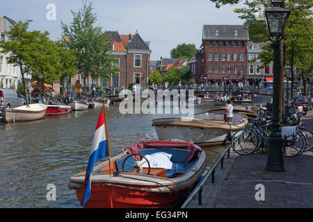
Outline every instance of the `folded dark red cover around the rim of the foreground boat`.
<svg viewBox="0 0 313 222"><path fill-rule="evenodd" d="M198 157L200 148L193 144L193 142L182 142L182 141L170 141L170 140L142 140L134 146L129 146L124 148L129 154L138 154L138 151L147 148L182 148L184 150L190 151L186 162L190 162L193 158ZM136 160L140 160L140 156L134 156Z"/></svg>

